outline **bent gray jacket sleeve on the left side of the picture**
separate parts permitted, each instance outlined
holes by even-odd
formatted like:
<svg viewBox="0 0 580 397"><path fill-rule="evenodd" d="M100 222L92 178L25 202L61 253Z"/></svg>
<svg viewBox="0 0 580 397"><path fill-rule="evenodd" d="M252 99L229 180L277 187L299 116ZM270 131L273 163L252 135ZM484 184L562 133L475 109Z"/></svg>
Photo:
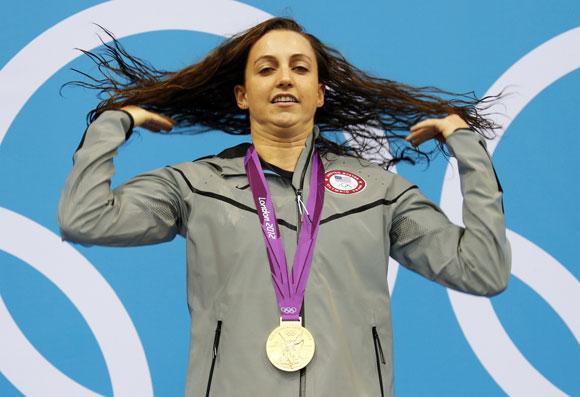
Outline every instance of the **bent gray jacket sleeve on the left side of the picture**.
<svg viewBox="0 0 580 397"><path fill-rule="evenodd" d="M60 198L58 222L64 240L129 246L185 233L186 206L170 168L139 175L111 190L113 156L132 122L123 111L106 111L86 130Z"/></svg>

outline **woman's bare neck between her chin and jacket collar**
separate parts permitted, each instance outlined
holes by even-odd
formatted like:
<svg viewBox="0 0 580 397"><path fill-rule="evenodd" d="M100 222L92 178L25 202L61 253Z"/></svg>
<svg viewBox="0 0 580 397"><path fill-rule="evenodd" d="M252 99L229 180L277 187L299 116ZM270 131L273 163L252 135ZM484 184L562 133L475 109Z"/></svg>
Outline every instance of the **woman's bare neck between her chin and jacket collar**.
<svg viewBox="0 0 580 397"><path fill-rule="evenodd" d="M293 172L311 133L312 128L309 128L298 134L281 136L261 128L252 128L252 142L262 160Z"/></svg>

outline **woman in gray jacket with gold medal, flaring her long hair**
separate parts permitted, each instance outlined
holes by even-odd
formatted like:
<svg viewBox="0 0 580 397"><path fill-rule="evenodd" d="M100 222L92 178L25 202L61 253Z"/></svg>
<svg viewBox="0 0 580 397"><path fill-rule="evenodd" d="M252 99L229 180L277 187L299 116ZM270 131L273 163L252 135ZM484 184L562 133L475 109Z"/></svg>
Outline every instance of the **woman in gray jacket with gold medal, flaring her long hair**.
<svg viewBox="0 0 580 397"><path fill-rule="evenodd" d="M478 113L484 100L446 101L433 95L441 90L370 77L283 18L175 73L114 45L117 68L90 55L128 81L90 84L111 97L89 114L59 222L80 243L185 237L186 395L392 396L389 255L457 290L506 288L502 192L473 131L493 127ZM417 122L425 116L438 118ZM252 145L111 191L113 155L132 128L174 125L249 132ZM409 127L406 137L397 132ZM338 143L336 130L355 145ZM361 159L383 153L387 140L383 164L427 157L417 146L431 138L458 160L464 228L416 186Z"/></svg>

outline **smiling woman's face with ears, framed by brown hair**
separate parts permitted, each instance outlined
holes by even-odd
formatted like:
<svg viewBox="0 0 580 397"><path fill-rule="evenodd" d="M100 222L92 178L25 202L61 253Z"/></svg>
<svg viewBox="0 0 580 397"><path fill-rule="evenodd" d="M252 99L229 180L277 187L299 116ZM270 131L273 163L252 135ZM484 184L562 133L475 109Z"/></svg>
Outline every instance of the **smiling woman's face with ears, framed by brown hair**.
<svg viewBox="0 0 580 397"><path fill-rule="evenodd" d="M266 33L250 49L244 85L234 92L238 106L249 109L252 129L312 128L324 87L310 42L289 30Z"/></svg>

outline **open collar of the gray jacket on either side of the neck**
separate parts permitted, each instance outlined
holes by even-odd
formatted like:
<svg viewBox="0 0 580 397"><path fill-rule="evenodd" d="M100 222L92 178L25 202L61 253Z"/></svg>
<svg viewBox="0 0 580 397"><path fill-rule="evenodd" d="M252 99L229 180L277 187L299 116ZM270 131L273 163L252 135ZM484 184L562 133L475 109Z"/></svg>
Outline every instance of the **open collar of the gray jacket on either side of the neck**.
<svg viewBox="0 0 580 397"><path fill-rule="evenodd" d="M320 129L315 125L312 134L310 134L308 139L306 139L306 144L304 145L300 157L298 157L298 162L296 163L294 176L292 177L292 185L295 189L302 189L304 184L308 184L307 177L309 175L312 153L314 152L314 142L319 136ZM244 158L249 146L249 142L240 143L239 145L223 150L216 156L201 158L196 161L203 161L211 164L224 178L245 176L246 170L244 168Z"/></svg>

